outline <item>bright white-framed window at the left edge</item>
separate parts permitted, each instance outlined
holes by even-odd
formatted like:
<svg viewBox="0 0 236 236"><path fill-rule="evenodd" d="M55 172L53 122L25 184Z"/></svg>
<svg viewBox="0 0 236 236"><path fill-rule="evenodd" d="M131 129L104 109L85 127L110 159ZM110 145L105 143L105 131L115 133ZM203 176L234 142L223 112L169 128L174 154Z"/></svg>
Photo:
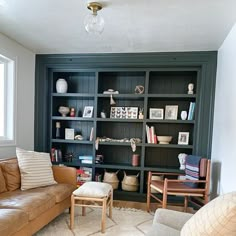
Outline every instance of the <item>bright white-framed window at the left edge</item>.
<svg viewBox="0 0 236 236"><path fill-rule="evenodd" d="M0 55L0 145L15 144L15 60Z"/></svg>

